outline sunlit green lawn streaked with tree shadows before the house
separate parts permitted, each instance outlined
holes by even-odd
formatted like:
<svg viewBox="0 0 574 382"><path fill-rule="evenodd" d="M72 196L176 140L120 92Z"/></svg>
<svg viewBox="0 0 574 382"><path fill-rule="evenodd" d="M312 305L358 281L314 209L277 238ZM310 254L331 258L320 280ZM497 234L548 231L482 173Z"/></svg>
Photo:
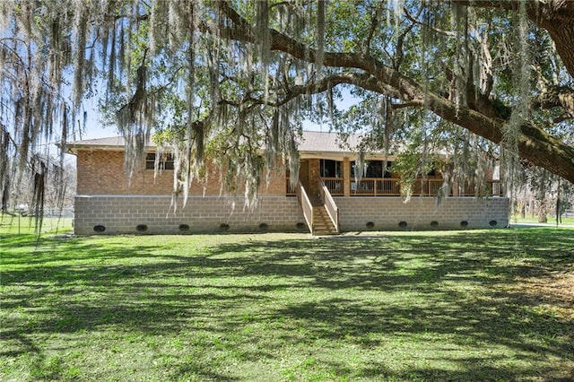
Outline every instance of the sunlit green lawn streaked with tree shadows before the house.
<svg viewBox="0 0 574 382"><path fill-rule="evenodd" d="M3 381L574 378L574 230L0 237Z"/></svg>

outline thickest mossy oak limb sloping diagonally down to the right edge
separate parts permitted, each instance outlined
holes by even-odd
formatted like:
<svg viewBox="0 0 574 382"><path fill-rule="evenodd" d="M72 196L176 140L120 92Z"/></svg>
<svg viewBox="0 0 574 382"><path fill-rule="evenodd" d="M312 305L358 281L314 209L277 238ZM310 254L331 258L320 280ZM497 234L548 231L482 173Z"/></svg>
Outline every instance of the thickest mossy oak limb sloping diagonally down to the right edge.
<svg viewBox="0 0 574 382"><path fill-rule="evenodd" d="M222 5L222 8L224 13L229 14L232 21L236 23L236 30L241 32L237 35L238 39L253 40L248 23L238 13L230 9L228 4ZM283 51L304 62L314 63L316 61L317 52L305 44L273 29L270 30L270 36L272 50ZM372 56L361 53L326 52L323 65L359 69L364 72L364 75L369 76L367 79L370 83L381 84L378 87L380 93L387 94L392 91L390 95L398 100L420 101L426 109L431 110L437 116L462 126L493 143L502 142L505 121L497 117L496 114L487 116L474 109L459 107L454 102L429 91L428 87L423 87ZM524 124L521 126L521 131L522 134L518 138L520 156L532 164L548 169L574 183L574 148L532 124Z"/></svg>

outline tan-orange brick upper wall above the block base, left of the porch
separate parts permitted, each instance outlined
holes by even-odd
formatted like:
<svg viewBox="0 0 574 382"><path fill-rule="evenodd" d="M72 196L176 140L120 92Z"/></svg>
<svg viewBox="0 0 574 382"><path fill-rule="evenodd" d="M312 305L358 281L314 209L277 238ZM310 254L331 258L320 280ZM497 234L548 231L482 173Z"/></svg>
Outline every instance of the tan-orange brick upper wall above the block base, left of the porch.
<svg viewBox="0 0 574 382"><path fill-rule="evenodd" d="M171 195L173 189L171 170L164 170L154 178L154 171L144 169L142 165L142 169L128 179L124 171L124 152L121 151L79 151L77 174L78 195ZM219 171L210 171L206 182L195 180L192 183L189 195L220 195L219 178ZM270 179L269 184L264 181L260 195L285 195L284 174Z"/></svg>

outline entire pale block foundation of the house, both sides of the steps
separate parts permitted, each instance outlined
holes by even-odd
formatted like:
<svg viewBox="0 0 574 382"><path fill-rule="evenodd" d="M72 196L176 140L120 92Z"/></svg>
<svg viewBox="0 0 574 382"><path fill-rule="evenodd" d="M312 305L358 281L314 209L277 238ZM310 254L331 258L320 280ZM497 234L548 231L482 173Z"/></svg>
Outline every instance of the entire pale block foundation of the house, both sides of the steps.
<svg viewBox="0 0 574 382"><path fill-rule="evenodd" d="M242 197L189 196L170 210L170 195L78 195L74 231L94 234L186 234L207 232L309 232L294 196L261 196L244 209ZM394 196L335 197L342 231L459 230L506 227L509 199L432 197L409 203Z"/></svg>

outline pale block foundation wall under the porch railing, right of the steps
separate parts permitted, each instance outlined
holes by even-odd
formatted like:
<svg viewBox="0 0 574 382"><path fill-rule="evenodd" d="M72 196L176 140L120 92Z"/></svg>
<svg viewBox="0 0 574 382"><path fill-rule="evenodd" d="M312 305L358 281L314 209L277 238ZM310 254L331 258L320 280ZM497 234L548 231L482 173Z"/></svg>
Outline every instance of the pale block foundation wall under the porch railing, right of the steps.
<svg viewBox="0 0 574 382"><path fill-rule="evenodd" d="M404 230L476 229L491 227L491 221L496 221L495 227L509 223L509 199L503 197L448 197L439 206L432 197L413 197L405 204L401 197L351 196L335 197L335 203L341 230L400 230L401 221L406 223Z"/></svg>

